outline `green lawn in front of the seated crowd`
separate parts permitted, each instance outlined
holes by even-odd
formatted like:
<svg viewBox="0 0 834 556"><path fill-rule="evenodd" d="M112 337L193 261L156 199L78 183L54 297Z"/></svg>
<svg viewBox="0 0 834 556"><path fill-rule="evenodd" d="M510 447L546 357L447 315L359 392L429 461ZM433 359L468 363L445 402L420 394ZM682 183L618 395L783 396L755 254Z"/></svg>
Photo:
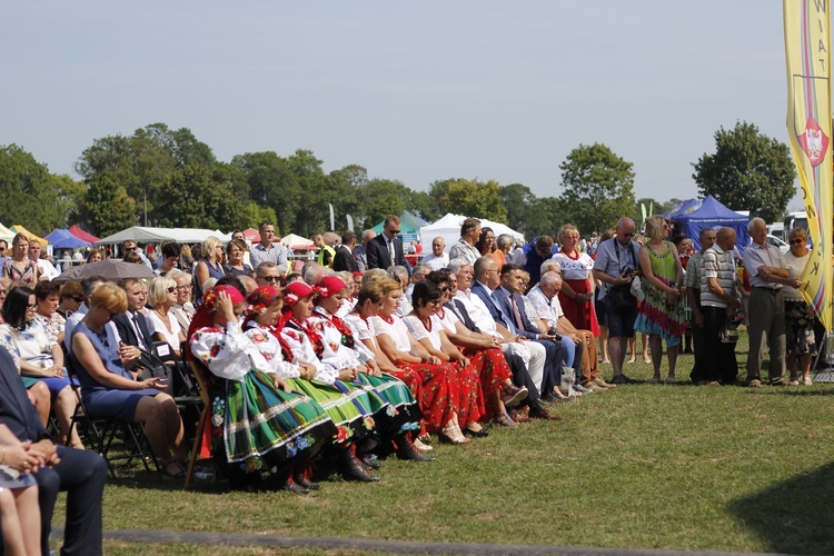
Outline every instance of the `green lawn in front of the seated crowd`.
<svg viewBox="0 0 834 556"><path fill-rule="evenodd" d="M742 368L745 349L743 336ZM678 379L691 367L681 356ZM649 365L626 369L652 376ZM389 459L378 484L326 481L310 496L182 492L137 471L109 483L105 528L832 554L832 395L822 384L620 386L556 406L563 421L492 428L465 447L435 441L437 461Z"/></svg>

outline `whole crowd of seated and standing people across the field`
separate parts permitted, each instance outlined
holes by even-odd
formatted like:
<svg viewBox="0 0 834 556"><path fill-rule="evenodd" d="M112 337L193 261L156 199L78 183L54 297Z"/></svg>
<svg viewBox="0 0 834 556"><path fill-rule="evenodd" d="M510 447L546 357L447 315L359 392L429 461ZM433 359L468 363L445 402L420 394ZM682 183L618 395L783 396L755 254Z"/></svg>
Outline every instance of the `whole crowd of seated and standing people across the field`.
<svg viewBox="0 0 834 556"><path fill-rule="evenodd" d="M420 258L410 246L406 258L399 219L389 216L361 242L353 231L318 235L317 260L294 272L265 221L251 248L236 231L226 246L212 237L165 242L152 262L128 240L122 260L153 278L80 284L53 281L58 271L38 241L0 241L7 549L46 546L61 489L73 500L64 550L100 552L107 467L70 427L72 381L91 414L143 425L163 478L185 478L187 439L170 385L135 370L159 345L207 389L206 450L230 485L297 494L331 474L379 480L390 456L433 461L434 440L466 445L489 434L486 424L559 420L553 406L635 383L624 364L629 346L635 359L636 331L651 346L651 384L662 381L664 344L664 381L677 381L686 335L695 384L761 386L765 346L771 385L812 384L804 230L791 231L783 256L753 218L753 244L739 259L732 228L701 230L693 252L692 241L673 242L662 216L644 226L639 237L622 218L585 240L568 224L558 241L540 236L513 250L510 236L467 218L448 251L437 237L430 252ZM87 264L105 257L92 249ZM739 380L734 341L745 292L751 353ZM648 353L644 344L644 360Z"/></svg>

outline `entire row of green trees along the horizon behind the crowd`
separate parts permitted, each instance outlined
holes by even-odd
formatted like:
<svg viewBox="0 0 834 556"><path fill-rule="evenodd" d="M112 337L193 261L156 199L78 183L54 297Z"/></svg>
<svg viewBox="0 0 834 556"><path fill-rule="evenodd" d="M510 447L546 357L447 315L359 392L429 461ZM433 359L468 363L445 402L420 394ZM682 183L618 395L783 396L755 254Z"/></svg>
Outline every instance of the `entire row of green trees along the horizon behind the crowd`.
<svg viewBox="0 0 834 556"><path fill-rule="evenodd" d="M747 123L716 132L716 155L693 165L702 193L768 221L780 218L794 195L787 147ZM78 222L106 236L136 225L229 231L271 220L280 234L309 236L329 228L332 205L337 229L346 215L361 230L407 209L429 221L446 212L488 218L529 238L554 234L567 221L589 234L622 216L637 219L641 203L662 212L678 202L635 199L633 165L600 143L578 146L559 165L558 197L537 197L523 183L459 178L416 191L398 180L370 179L357 165L325 172L321 160L300 149L288 157L247 152L222 162L189 129L165 123L96 139L75 169L80 181L50 173L16 145L0 147L0 221L36 234ZM737 190L745 193L729 197Z"/></svg>

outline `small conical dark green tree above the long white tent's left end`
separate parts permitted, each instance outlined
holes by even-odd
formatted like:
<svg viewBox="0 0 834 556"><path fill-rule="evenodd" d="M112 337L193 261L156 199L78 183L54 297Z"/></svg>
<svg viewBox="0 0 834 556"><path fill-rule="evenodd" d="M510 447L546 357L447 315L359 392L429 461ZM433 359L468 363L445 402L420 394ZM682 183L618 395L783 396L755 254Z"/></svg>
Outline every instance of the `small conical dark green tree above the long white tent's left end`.
<svg viewBox="0 0 834 556"><path fill-rule="evenodd" d="M119 185L110 170L96 172L88 182L87 195L80 202L80 212L90 231L100 237L110 236L136 226L136 201Z"/></svg>

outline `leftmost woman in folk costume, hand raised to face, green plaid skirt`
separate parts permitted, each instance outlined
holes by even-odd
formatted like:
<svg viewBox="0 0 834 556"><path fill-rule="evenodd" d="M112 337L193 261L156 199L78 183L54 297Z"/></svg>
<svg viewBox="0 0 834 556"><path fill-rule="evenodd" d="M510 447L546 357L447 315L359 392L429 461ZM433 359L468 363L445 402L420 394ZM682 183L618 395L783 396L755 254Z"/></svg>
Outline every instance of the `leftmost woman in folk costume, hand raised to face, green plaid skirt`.
<svg viewBox="0 0 834 556"><path fill-rule="evenodd" d="M290 390L280 359L265 358L242 332L245 307L240 291L219 286L206 294L189 330L189 358L209 371L212 454L234 486L274 479L307 494L294 475L304 476L336 427L308 396Z"/></svg>

